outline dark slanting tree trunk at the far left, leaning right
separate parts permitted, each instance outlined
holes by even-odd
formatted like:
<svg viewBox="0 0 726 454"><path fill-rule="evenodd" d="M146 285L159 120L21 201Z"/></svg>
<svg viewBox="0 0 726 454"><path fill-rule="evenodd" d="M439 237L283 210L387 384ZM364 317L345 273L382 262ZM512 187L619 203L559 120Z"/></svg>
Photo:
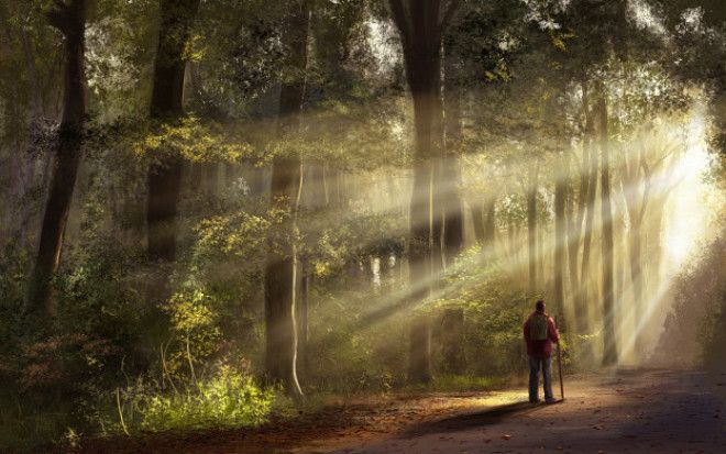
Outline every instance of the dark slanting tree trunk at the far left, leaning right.
<svg viewBox="0 0 726 454"><path fill-rule="evenodd" d="M56 9L48 13L48 21L65 37L65 69L63 117L58 129L51 191L45 203L35 267L26 301L28 312L37 317L47 315L53 311L51 278L61 263L63 235L80 164L86 117L84 92L86 1L73 0L67 5L56 5Z"/></svg>

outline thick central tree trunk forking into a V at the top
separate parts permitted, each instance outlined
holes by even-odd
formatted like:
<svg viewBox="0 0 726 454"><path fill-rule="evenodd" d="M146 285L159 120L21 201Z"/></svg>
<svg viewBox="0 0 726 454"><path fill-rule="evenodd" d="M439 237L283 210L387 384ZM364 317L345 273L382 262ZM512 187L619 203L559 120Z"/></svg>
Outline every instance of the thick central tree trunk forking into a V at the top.
<svg viewBox="0 0 726 454"><path fill-rule="evenodd" d="M406 77L414 98L416 168L410 204L410 287L413 301L425 299L432 283L432 267L439 207L435 207L433 181L437 159L443 153L443 104L441 102L441 37L457 2L442 14L438 0L389 0L394 22L400 33ZM437 235L437 236L435 236ZM438 248L438 247L437 247ZM437 265L435 265L437 264ZM409 378L426 383L431 378L430 324L426 315L411 323Z"/></svg>

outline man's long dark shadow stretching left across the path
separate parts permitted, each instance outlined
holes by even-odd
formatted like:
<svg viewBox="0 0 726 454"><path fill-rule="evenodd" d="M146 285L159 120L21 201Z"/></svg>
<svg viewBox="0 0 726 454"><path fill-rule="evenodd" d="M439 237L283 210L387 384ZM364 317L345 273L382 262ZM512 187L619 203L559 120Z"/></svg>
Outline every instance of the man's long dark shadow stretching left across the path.
<svg viewBox="0 0 726 454"><path fill-rule="evenodd" d="M459 432L466 429L496 424L512 414L526 414L541 408L543 408L543 406L535 406L528 401L507 403L484 411L458 414L451 418L417 424L402 433L400 436L417 436L437 432Z"/></svg>

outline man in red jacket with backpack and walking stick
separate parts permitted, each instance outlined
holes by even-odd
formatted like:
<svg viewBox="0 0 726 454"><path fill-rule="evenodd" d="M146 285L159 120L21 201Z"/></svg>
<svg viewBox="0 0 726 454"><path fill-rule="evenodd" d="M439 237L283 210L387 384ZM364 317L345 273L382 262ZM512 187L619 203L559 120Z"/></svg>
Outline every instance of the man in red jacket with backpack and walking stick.
<svg viewBox="0 0 726 454"><path fill-rule="evenodd" d="M552 342L560 342L554 320L544 313L544 301L539 300L535 312L525 322L525 342L529 356L529 401L539 402L539 369L544 377L544 401L553 403L552 396Z"/></svg>

